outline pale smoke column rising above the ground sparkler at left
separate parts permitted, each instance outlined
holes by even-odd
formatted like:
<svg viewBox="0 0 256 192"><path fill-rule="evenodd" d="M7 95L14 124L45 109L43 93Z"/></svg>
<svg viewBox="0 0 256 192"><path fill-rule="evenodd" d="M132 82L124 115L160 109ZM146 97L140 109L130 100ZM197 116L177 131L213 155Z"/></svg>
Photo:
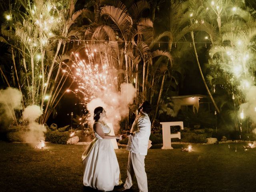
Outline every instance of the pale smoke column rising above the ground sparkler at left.
<svg viewBox="0 0 256 192"><path fill-rule="evenodd" d="M26 142L34 143L40 140L44 141L44 132L46 128L44 125L40 125L35 122L43 114L40 106L30 105L24 109L22 112L22 119L28 121L28 132L24 135L24 140Z"/></svg>

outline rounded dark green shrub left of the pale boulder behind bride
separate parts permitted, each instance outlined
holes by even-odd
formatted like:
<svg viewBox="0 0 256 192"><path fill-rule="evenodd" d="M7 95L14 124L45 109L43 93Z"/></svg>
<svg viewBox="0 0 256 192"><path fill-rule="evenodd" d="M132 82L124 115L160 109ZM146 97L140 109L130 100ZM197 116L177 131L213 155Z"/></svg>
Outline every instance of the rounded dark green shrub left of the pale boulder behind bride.
<svg viewBox="0 0 256 192"><path fill-rule="evenodd" d="M55 143L55 144L66 144L69 138L70 138L70 133L67 131L59 132L58 130L55 130L55 131L48 131L45 133L45 141Z"/></svg>

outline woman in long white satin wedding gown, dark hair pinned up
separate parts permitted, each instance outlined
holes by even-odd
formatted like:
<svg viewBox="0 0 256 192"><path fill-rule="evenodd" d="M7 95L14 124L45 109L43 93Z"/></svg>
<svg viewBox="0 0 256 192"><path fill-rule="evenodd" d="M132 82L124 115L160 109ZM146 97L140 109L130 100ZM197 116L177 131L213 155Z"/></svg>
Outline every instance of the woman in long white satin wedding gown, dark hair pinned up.
<svg viewBox="0 0 256 192"><path fill-rule="evenodd" d="M106 111L102 107L94 109L93 130L95 134L90 146L82 154L83 183L101 191L112 191L114 186L121 185L121 174L116 153L110 139L121 139L121 136L110 136L110 128L102 120Z"/></svg>

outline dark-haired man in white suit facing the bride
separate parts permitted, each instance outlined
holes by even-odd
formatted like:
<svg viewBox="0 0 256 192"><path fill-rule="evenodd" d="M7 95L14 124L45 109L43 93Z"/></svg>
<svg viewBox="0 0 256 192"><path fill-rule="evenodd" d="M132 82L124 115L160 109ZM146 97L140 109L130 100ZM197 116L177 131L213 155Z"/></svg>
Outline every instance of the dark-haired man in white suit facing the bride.
<svg viewBox="0 0 256 192"><path fill-rule="evenodd" d="M126 149L130 151L127 164L127 179L123 188L118 191L130 189L135 175L140 192L148 192L144 160L148 152L148 140L151 133L151 123L148 117L150 111L150 103L148 101L143 102L138 108L139 114L136 116L131 130L126 132L129 136Z"/></svg>

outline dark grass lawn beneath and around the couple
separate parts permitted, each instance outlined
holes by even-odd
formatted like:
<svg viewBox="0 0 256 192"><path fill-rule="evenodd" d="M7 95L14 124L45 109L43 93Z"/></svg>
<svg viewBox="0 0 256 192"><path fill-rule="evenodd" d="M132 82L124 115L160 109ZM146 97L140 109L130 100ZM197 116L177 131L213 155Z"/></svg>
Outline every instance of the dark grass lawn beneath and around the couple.
<svg viewBox="0 0 256 192"><path fill-rule="evenodd" d="M173 144L148 150L146 172L149 192L169 191L256 191L256 148L244 151L246 143L194 144L193 152L182 152L187 145ZM235 149L237 148L237 152ZM83 145L47 144L43 150L24 143L0 142L0 191L95 191L82 183ZM126 179L128 151L116 150L122 180ZM138 191L134 182L132 192Z"/></svg>

